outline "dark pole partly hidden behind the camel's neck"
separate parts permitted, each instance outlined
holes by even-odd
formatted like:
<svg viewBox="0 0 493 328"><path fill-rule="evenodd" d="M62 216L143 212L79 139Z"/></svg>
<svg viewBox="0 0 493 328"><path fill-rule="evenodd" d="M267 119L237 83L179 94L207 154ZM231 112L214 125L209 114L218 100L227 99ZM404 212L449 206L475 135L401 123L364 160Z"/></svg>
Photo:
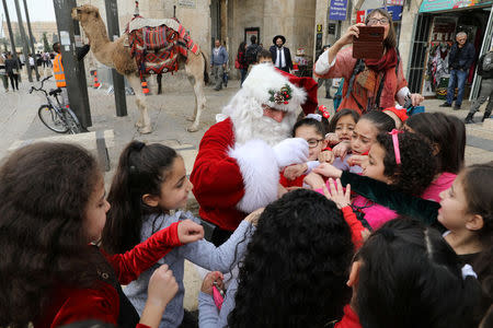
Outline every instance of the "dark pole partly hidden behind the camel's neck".
<svg viewBox="0 0 493 328"><path fill-rule="evenodd" d="M105 0L104 4L106 7L107 35L114 42L119 37L118 7L116 5L116 0ZM115 69L112 69L112 78L115 91L116 116L127 116L124 77Z"/></svg>

